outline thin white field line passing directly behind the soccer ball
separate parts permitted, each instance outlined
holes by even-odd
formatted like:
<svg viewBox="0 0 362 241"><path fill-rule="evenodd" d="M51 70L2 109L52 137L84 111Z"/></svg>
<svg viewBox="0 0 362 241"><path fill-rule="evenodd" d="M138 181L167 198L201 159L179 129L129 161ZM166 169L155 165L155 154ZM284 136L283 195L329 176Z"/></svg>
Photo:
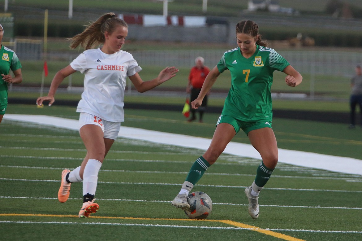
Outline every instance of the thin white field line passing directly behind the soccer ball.
<svg viewBox="0 0 362 241"><path fill-rule="evenodd" d="M45 198L45 197L18 197L18 196L0 196L1 198L8 199L43 199L43 200L58 200L58 198ZM81 200L80 198L69 198L68 200ZM140 199L109 199L109 198L97 198L97 200L101 201L134 201L134 202L142 202L142 203L171 203L169 201L163 200L140 200ZM212 203L212 205L228 205L228 206L248 206L249 204L239 204L239 203ZM274 208L317 208L317 209L346 209L346 210L362 210L362 208L358 207L322 207L318 206L302 206L302 205L261 205L260 207L274 207Z"/></svg>

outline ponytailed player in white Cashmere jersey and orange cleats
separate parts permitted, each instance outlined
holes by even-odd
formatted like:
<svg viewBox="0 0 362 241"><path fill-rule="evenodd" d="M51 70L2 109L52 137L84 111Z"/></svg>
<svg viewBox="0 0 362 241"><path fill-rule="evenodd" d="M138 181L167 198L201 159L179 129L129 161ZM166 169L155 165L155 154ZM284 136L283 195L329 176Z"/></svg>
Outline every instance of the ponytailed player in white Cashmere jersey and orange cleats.
<svg viewBox="0 0 362 241"><path fill-rule="evenodd" d="M124 121L123 97L128 77L139 92L145 92L173 78L178 69L167 67L157 78L143 81L138 66L130 53L121 50L128 33L125 21L114 13L107 13L80 34L71 38L71 48L79 45L86 50L67 67L54 76L49 94L37 99L37 105L49 101L54 103L54 95L59 84L76 71L84 73L84 92L79 101L79 133L87 149L87 155L79 167L63 170L58 200L67 201L70 185L83 181L83 207L79 217L89 217L97 212L99 205L94 203L98 171L110 147L118 136L121 122ZM97 49L93 46L102 44Z"/></svg>

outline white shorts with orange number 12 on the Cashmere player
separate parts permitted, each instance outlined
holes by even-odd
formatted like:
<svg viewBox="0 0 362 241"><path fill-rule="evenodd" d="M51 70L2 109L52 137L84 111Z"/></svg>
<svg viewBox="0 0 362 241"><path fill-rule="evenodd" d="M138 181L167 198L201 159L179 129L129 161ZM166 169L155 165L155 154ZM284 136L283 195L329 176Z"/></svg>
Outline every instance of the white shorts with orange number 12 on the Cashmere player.
<svg viewBox="0 0 362 241"><path fill-rule="evenodd" d="M79 115L79 130L82 126L87 124L99 126L104 133L104 138L109 138L112 140L117 139L119 129L121 128L121 122L106 121L95 115L81 112Z"/></svg>

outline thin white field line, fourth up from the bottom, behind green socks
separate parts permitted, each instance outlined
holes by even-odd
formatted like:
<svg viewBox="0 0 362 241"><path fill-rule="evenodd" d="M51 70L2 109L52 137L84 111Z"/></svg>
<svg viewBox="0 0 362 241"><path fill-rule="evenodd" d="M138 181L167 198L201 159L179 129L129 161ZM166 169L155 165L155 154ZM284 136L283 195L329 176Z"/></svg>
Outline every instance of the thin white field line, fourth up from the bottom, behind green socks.
<svg viewBox="0 0 362 241"><path fill-rule="evenodd" d="M83 159L82 159L83 160ZM24 168L24 169L45 169L45 170L64 170L65 168L60 167L34 167L34 166L10 166L0 165L0 167L8 168ZM119 172L119 173L152 173L152 174L188 174L188 172L178 171L131 171L131 170L106 170L100 169L101 172ZM204 175L217 175L217 176L255 176L255 174L240 174L240 173L205 173ZM323 180L345 180L345 181L362 181L360 178L334 178L334 177L317 177L317 176L283 176L273 175L273 178L292 178L292 179L323 179ZM199 185L199 184L198 184Z"/></svg>

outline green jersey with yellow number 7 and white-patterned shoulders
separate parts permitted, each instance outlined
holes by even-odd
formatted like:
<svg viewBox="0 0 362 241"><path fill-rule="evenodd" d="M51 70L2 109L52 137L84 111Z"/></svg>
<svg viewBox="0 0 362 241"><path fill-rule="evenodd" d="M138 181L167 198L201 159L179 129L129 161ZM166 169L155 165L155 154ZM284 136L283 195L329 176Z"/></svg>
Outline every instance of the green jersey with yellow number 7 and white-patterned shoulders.
<svg viewBox="0 0 362 241"><path fill-rule="evenodd" d="M240 48L226 51L217 67L220 73L230 70L231 88L222 115L241 121L271 121L270 88L274 70L283 71L289 63L274 49L256 46L250 58Z"/></svg>

